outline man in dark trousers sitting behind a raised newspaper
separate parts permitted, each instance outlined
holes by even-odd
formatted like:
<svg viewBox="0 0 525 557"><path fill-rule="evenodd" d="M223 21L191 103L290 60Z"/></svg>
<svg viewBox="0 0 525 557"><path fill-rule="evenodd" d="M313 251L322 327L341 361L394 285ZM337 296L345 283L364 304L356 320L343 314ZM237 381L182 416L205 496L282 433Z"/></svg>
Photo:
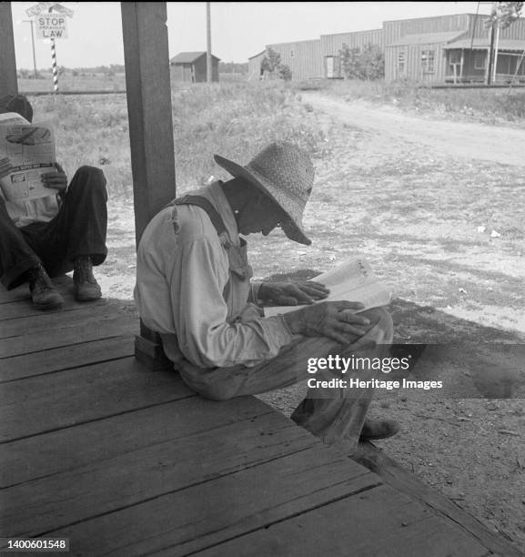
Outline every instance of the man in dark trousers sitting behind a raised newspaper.
<svg viewBox="0 0 525 557"><path fill-rule="evenodd" d="M31 122L33 109L24 96L0 99L0 114L16 112ZM11 164L0 165L0 177ZM76 299L99 299L93 265L107 254L106 178L96 167L80 167L69 186L60 165L43 175L56 195L7 201L0 190L0 280L6 289L27 282L36 309L59 309L64 299L53 277L73 270Z"/></svg>

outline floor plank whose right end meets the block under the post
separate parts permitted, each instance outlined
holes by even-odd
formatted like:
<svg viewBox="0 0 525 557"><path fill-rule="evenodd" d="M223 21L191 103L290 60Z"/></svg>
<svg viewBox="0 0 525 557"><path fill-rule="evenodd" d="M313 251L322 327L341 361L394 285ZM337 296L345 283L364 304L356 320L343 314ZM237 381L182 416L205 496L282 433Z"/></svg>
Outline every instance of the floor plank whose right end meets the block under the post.
<svg viewBox="0 0 525 557"><path fill-rule="evenodd" d="M175 371L134 358L60 371L0 388L0 442L193 396Z"/></svg>

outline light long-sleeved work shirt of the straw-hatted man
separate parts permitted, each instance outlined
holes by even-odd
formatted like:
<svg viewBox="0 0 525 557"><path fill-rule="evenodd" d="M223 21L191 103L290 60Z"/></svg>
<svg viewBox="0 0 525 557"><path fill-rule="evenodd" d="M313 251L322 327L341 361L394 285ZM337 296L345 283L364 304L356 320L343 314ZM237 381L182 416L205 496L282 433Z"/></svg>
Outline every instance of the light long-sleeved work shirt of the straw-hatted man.
<svg viewBox="0 0 525 557"><path fill-rule="evenodd" d="M141 319L161 333L176 367L185 360L214 368L274 358L292 334L282 316L264 318L253 303L260 283L250 283L246 247L221 182L191 194L211 202L227 232L219 238L207 212L193 205L164 208L151 220L136 254Z"/></svg>

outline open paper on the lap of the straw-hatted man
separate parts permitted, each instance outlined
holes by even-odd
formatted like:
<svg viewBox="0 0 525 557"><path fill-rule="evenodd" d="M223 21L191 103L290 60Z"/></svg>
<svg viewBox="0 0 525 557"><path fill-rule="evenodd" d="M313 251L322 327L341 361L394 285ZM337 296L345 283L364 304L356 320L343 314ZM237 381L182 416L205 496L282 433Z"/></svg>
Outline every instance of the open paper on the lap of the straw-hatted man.
<svg viewBox="0 0 525 557"><path fill-rule="evenodd" d="M361 257L348 258L336 268L312 280L324 284L330 290L328 298L319 301L346 299L361 302L364 308L359 311L386 306L393 298L393 290L379 282L378 277L372 272L369 262ZM300 306L265 308L265 317L272 317L299 308Z"/></svg>

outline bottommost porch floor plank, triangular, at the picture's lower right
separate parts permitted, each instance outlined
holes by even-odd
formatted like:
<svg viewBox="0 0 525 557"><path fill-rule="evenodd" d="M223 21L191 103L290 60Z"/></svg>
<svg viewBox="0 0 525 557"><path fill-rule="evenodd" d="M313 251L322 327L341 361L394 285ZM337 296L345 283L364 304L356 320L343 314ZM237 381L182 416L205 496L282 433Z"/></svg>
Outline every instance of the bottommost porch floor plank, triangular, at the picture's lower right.
<svg viewBox="0 0 525 557"><path fill-rule="evenodd" d="M483 557L487 550L418 502L379 486L197 554Z"/></svg>

